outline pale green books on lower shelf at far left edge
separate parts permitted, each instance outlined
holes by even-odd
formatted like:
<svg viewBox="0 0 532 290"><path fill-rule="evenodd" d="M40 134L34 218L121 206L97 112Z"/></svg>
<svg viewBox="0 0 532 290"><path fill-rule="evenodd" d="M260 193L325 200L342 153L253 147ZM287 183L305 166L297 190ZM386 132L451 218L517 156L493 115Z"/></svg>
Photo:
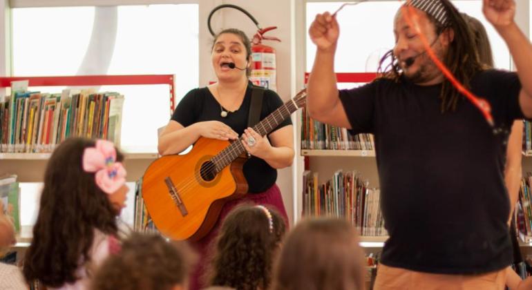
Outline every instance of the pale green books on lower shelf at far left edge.
<svg viewBox="0 0 532 290"><path fill-rule="evenodd" d="M20 233L20 188L17 175L0 175L0 200L3 214L8 215L15 226L15 233Z"/></svg>

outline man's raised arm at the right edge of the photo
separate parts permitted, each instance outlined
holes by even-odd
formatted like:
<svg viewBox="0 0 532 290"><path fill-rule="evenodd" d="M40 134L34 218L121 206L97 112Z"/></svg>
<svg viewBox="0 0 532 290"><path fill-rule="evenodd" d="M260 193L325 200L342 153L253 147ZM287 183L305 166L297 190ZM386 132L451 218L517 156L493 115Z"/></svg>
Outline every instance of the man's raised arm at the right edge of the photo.
<svg viewBox="0 0 532 290"><path fill-rule="evenodd" d="M521 110L532 117L532 45L514 21L514 0L484 0L484 16L504 39L517 68L522 90L519 95Z"/></svg>

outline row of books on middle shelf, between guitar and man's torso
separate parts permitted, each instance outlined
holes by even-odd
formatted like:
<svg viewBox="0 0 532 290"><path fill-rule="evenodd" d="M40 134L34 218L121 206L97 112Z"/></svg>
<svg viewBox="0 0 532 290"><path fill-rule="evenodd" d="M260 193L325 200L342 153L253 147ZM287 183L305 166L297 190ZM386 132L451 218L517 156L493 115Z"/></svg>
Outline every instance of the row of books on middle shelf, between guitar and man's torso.
<svg viewBox="0 0 532 290"><path fill-rule="evenodd" d="M336 171L318 184L318 173L303 173L303 215L345 218L360 235L388 235L380 207L380 191L354 171Z"/></svg>

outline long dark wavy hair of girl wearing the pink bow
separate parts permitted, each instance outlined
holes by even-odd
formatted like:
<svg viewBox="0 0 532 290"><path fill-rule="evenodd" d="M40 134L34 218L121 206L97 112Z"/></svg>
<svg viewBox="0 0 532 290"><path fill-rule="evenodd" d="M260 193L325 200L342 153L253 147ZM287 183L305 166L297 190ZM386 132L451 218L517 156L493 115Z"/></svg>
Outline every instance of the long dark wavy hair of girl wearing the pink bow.
<svg viewBox="0 0 532 290"><path fill-rule="evenodd" d="M82 167L85 148L93 146L95 140L69 138L48 160L33 240L24 257L28 282L39 280L48 287L75 282L80 259L91 262L94 230L117 235L117 211L96 185L95 173ZM117 161L123 159L117 151Z"/></svg>

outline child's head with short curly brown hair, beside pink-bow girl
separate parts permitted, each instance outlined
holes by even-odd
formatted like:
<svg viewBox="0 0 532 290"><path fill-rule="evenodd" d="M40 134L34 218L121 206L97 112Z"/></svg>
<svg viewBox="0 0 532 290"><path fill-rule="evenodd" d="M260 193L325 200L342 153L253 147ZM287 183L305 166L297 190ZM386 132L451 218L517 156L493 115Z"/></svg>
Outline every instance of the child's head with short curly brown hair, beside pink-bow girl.
<svg viewBox="0 0 532 290"><path fill-rule="evenodd" d="M195 255L185 242L167 242L160 235L134 233L98 268L92 290L187 289Z"/></svg>

